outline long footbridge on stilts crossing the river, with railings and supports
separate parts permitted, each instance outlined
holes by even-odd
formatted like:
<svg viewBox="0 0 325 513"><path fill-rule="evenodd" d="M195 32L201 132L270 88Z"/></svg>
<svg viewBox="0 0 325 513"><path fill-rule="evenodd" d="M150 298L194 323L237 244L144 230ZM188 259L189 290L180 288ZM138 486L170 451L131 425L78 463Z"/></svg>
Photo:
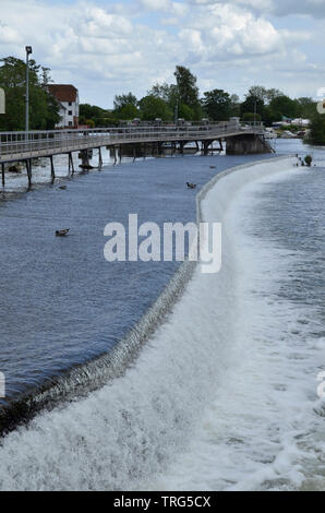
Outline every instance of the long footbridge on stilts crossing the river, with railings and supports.
<svg viewBox="0 0 325 513"><path fill-rule="evenodd" d="M184 145L195 142L198 148L207 154L214 141L228 140L230 150L227 153L266 153L270 147L264 140L262 123L241 127L238 122L225 121L201 126L141 126L123 128L105 128L88 130L46 130L29 132L0 132L0 164L2 168L2 184L4 186L4 164L25 162L29 186L32 184L32 160L49 157L51 177L55 178L53 155L69 155L69 170L73 167L72 153L80 152L82 167L88 166L88 151L99 150L99 167L103 165L101 147L111 148L116 158L116 150L129 145L156 144L162 151L164 143L178 144L182 153ZM233 145L234 143L234 145ZM239 145L238 145L239 143ZM232 148L232 150L231 150Z"/></svg>

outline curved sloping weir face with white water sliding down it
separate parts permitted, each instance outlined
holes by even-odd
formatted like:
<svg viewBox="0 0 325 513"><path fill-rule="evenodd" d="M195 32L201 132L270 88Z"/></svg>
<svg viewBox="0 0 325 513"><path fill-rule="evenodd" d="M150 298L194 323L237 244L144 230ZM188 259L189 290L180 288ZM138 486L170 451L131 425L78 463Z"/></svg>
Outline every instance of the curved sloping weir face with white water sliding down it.
<svg viewBox="0 0 325 513"><path fill-rule="evenodd" d="M209 211L214 219L225 218L241 187L261 175L293 169L292 164L290 159L275 159L242 165L215 177L197 199L198 220L201 207L204 220ZM217 189L202 204L217 182ZM191 428L203 417L207 402L214 399L222 367L227 369L225 363L231 356L238 295L229 286L229 281L236 279L230 242L226 239L224 270L208 278L194 271L194 279L166 324L153 333L161 322L161 309L169 311L169 299L173 303L174 290L179 293L191 274L178 276L180 282L159 298L128 344L117 347L112 363L119 380L105 385L110 362L103 358L76 369L70 382L58 386L59 394L65 387L75 393L79 382L94 385L96 378L104 386L64 408L38 415L28 430L22 428L3 440L2 488L14 484L22 489L136 489L146 480L152 485L155 474L188 449ZM130 368L131 355L142 347L143 336L151 337L151 343ZM229 438L227 443L229 446ZM14 465L10 463L13 458Z"/></svg>

